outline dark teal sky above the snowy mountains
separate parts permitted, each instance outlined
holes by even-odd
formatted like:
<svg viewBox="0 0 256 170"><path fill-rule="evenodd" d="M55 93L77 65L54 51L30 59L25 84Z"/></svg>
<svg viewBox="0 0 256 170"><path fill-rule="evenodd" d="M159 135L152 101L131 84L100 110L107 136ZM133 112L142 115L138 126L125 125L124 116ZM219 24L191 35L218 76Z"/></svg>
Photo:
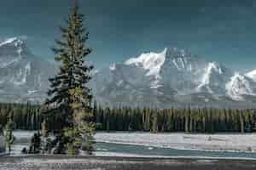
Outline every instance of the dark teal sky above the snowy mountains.
<svg viewBox="0 0 256 170"><path fill-rule="evenodd" d="M256 69L254 0L80 0L96 68L166 47L188 49L236 71ZM27 37L32 53L54 60L73 0L1 0L0 37Z"/></svg>

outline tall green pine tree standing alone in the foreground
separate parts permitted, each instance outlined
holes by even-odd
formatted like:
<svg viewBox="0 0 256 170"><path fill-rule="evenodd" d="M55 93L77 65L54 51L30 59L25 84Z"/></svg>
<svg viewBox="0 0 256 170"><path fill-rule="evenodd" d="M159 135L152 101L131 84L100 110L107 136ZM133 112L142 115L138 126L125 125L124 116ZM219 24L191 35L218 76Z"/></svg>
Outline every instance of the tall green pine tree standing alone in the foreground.
<svg viewBox="0 0 256 170"><path fill-rule="evenodd" d="M89 33L83 22L84 15L79 13L79 5L75 3L68 17L67 27L61 27L61 40L56 40L56 47L53 48L55 60L60 63L60 70L54 78L49 79L49 99L45 102L47 109L44 112L44 121L48 131L55 134L56 154L66 154L67 150L68 153L77 154L77 151L70 151L70 147L74 148L72 144L76 143L73 139L83 136L79 131L84 129L79 129L80 122L83 125L91 124L88 117L91 116L92 95L87 83L90 81L90 71L93 67L84 62L91 49L85 46ZM67 131L75 133L68 136L70 133ZM79 149L77 143L75 148Z"/></svg>

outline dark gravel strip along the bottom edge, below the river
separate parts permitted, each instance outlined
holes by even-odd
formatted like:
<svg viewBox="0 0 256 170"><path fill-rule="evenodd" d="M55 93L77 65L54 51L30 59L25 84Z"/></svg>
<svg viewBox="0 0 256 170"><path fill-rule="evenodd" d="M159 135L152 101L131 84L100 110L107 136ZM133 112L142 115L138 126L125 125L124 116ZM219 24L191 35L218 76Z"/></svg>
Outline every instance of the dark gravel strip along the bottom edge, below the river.
<svg viewBox="0 0 256 170"><path fill-rule="evenodd" d="M255 170L253 160L99 156L0 157L1 170Z"/></svg>

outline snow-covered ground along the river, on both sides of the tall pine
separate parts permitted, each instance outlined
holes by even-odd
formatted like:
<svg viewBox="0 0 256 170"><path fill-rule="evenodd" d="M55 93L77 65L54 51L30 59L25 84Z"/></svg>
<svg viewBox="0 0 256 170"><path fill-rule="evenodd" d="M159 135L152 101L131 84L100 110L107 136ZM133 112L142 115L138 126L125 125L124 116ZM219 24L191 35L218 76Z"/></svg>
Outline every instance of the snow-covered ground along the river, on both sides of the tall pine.
<svg viewBox="0 0 256 170"><path fill-rule="evenodd" d="M32 131L15 131L13 155L20 155L20 150L28 147ZM134 144L177 150L213 150L241 151L256 153L256 134L221 133L221 134L186 134L186 133L96 133L96 142L107 144ZM1 138L0 138L1 140ZM106 148L107 147L107 148ZM119 152L122 149L119 148ZM134 156L132 153L111 153L108 146L96 148L96 156Z"/></svg>

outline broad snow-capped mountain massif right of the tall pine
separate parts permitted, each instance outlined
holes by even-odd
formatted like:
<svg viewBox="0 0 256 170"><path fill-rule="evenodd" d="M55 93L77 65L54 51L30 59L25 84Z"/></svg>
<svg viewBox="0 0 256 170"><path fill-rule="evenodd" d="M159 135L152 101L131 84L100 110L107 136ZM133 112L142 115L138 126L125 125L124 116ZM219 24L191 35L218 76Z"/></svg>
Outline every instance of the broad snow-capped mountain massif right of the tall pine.
<svg viewBox="0 0 256 170"><path fill-rule="evenodd" d="M252 77L177 48L143 53L97 71L91 87L96 99L105 105L242 107L256 104L256 84Z"/></svg>

